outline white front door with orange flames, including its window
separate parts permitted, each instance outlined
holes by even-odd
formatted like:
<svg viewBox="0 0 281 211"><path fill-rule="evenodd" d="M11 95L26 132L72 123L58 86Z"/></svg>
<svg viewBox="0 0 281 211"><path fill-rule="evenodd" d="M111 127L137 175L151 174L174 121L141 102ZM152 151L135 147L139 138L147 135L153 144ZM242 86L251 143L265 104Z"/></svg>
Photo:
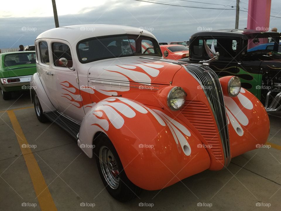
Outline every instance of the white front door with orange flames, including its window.
<svg viewBox="0 0 281 211"><path fill-rule="evenodd" d="M85 116L75 59L71 46L64 40L52 40L52 69L56 75L58 110L65 116L81 122ZM60 59L67 59L67 65Z"/></svg>

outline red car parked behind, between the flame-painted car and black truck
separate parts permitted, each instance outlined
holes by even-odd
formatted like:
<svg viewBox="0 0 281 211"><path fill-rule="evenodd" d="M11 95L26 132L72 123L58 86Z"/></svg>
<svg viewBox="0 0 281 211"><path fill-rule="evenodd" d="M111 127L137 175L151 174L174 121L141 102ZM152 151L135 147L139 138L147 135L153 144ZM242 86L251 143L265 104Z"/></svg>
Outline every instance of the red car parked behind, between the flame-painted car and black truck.
<svg viewBox="0 0 281 211"><path fill-rule="evenodd" d="M160 45L160 49L166 59L178 60L189 56L189 48L184 45ZM168 52L168 56L164 51Z"/></svg>

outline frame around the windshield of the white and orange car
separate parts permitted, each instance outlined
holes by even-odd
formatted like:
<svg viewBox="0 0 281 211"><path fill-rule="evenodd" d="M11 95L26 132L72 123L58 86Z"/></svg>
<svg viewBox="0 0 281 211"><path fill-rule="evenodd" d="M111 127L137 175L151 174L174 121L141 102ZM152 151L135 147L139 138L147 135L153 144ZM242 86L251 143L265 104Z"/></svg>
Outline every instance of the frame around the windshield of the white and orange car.
<svg viewBox="0 0 281 211"><path fill-rule="evenodd" d="M132 54L128 54L128 55L121 55L119 57L110 56L110 57L103 57L103 58L91 59L91 60L86 60L86 61L83 61L82 58L80 57L79 44L81 44L83 42L90 41L90 40L111 38L111 37L122 37L122 36L126 36L128 38L128 40L130 40L130 36L135 36L136 38L138 37L138 35L135 35L135 34L115 34L115 35L105 35L105 36L91 37L91 38L86 38L86 39L80 40L79 42L77 42L77 45L76 45L76 54L77 54L79 62L82 63L82 64L86 64L86 63L100 61L100 60L104 60L104 59L118 59L118 58L122 58L122 57L131 57L131 56L157 56L157 57L162 57L162 51L160 49L160 46L159 46L159 43L157 42L157 40L153 37L149 37L149 36L145 36L145 35L140 35L140 37L138 39L140 39L140 38L151 39L153 41L153 47L155 46L154 47L155 49L157 49L157 48L159 49L159 54L132 53Z"/></svg>

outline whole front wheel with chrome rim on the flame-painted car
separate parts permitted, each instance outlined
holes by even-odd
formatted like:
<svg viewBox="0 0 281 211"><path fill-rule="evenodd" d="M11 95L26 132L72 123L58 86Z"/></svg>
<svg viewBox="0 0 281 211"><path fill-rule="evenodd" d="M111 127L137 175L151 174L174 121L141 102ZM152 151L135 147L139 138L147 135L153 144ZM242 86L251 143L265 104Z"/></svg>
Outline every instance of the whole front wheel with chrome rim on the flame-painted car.
<svg viewBox="0 0 281 211"><path fill-rule="evenodd" d="M140 194L141 188L126 176L116 149L107 135L100 134L96 138L95 155L102 182L113 198L125 202Z"/></svg>

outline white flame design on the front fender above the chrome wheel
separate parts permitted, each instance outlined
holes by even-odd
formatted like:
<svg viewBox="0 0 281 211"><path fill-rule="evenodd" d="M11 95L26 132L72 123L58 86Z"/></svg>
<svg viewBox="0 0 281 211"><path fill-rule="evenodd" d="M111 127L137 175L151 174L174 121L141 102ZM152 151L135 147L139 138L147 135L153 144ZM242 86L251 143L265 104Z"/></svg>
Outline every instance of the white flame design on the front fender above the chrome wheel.
<svg viewBox="0 0 281 211"><path fill-rule="evenodd" d="M116 99L120 100L121 102L114 102L116 101ZM131 106L134 110L129 106ZM105 113L109 121L101 119L103 113L100 110ZM121 116L117 111L123 116ZM140 112L143 114L150 112L160 125L162 125L163 127L167 125L169 127L176 144L180 144L184 154L186 154L187 156L191 154L191 148L189 143L187 142L188 137L191 136L189 130L184 125L170 118L160 110L152 110L135 101L118 97L106 98L100 101L93 107L92 114L94 115L94 124L97 124L103 130L108 131L109 122L116 129L120 129L125 123L124 117L134 118L136 116L136 112Z"/></svg>

